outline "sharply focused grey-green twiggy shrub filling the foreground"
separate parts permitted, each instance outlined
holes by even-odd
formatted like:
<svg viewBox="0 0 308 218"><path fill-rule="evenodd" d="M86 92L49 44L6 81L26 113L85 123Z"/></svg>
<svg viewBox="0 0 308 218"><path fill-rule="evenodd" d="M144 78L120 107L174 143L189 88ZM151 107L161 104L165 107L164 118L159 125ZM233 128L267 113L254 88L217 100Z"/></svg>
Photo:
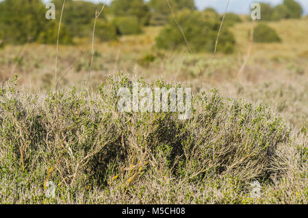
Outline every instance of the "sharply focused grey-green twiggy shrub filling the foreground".
<svg viewBox="0 0 308 218"><path fill-rule="evenodd" d="M177 112L118 112L118 88L131 90L133 83L123 75L108 77L92 95L75 88L58 95L23 93L15 88L17 80L0 88L1 203L75 202L86 191L81 202L96 202L99 195L103 202L129 202L133 195L158 203L166 199L157 196L176 193L175 202L202 195L202 202L236 204L248 200L244 184L259 180L279 189L279 179L290 177L298 182L291 191L307 189L307 138L261 104L224 101L211 90L192 96L192 117L181 121ZM140 88L179 88L162 80L137 81ZM44 197L42 186L49 180L57 185L55 199ZM214 187L205 186L209 182ZM153 183L155 200L144 199L152 195ZM186 198L177 183L197 188ZM16 199L14 185L23 190ZM164 186L176 190L156 190ZM215 191L209 199L206 187ZM241 197L229 199L229 193L219 199L217 192L230 187ZM277 195L262 199L281 202L284 196L283 202L294 202L293 195ZM305 201L305 195L299 199Z"/></svg>

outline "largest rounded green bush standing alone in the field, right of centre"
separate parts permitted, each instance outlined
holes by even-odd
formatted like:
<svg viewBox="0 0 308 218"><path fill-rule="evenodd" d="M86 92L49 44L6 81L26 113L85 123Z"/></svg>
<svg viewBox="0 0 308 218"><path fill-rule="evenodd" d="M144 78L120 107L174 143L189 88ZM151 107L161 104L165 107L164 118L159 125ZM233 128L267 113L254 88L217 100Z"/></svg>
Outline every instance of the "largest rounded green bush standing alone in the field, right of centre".
<svg viewBox="0 0 308 218"><path fill-rule="evenodd" d="M183 28L183 32L193 51L214 51L220 27L219 21L207 19L203 12L191 12L189 10L179 12L177 21ZM234 45L233 34L228 29L222 29L218 41L218 51L232 53ZM186 46L183 35L173 19L156 38L156 46L159 49L179 49Z"/></svg>

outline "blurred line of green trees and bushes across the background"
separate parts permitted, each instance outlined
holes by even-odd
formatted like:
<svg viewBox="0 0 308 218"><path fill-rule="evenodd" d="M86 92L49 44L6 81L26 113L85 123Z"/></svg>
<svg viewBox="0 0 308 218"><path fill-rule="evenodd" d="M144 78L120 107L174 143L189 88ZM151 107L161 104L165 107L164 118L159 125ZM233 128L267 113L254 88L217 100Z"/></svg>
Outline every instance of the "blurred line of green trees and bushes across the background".
<svg viewBox="0 0 308 218"><path fill-rule="evenodd" d="M63 0L55 4L55 20L45 19L47 9L41 0L4 0L0 2L0 40L4 43L53 44L57 40ZM60 31L60 43L73 43L73 38L88 37L92 34L95 11L101 10L102 3L66 0ZM170 6L172 10L170 9ZM162 49L177 49L185 46L172 11L196 51L213 51L222 15L213 8L196 10L194 0L114 0L105 5L97 19L96 37L103 41L117 40L127 34L140 34L145 26L164 25L156 40ZM272 8L261 3L264 21L296 19L303 9L294 0ZM227 13L224 28L220 34L218 51L231 53L235 40L228 27L242 22L237 14Z"/></svg>

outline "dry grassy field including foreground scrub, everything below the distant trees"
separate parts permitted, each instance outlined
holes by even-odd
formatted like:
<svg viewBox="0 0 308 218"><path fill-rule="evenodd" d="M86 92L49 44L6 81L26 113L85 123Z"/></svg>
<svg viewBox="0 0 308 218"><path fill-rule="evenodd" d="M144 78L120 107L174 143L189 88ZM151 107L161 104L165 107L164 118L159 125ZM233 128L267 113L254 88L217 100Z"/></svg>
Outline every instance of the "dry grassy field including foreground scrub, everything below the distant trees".
<svg viewBox="0 0 308 218"><path fill-rule="evenodd" d="M58 96L55 46L7 45L0 203L307 204L307 21L268 23L282 43L253 44L241 74L251 23L231 28L233 54L215 56L155 49L162 27L147 27L95 45L90 88L91 41L79 39L59 47ZM116 88L158 79L192 88L192 119L114 109Z"/></svg>

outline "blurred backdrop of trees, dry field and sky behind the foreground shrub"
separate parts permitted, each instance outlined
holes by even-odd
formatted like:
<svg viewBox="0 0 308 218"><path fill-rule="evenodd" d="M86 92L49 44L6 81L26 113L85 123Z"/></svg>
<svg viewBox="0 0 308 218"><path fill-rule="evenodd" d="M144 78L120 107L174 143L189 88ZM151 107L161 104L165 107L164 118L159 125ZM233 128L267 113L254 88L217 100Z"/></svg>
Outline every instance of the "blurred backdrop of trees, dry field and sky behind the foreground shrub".
<svg viewBox="0 0 308 218"><path fill-rule="evenodd" d="M64 1L51 1L55 20L45 18L47 2L0 1L0 82L18 73L18 86L29 92L53 90ZM123 71L181 82L194 92L218 88L226 98L261 101L298 128L307 122L308 1L257 1L261 20L255 22L254 1L231 0L225 16L227 0L109 1L97 19L90 64L95 12L104 2L66 0L61 88L81 88L91 72L95 90L107 75Z"/></svg>

